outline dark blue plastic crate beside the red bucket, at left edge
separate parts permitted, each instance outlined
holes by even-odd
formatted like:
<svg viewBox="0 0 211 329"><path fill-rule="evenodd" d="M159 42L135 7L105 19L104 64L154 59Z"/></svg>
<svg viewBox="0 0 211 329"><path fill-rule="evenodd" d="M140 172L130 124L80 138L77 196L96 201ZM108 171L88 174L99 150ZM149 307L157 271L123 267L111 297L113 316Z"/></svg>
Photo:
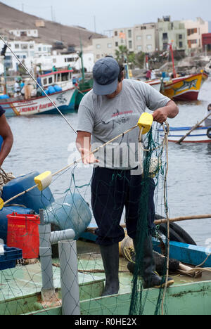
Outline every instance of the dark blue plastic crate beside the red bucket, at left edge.
<svg viewBox="0 0 211 329"><path fill-rule="evenodd" d="M16 265L17 259L23 258L22 249L4 246L4 254L0 255L0 271L4 269L12 269Z"/></svg>

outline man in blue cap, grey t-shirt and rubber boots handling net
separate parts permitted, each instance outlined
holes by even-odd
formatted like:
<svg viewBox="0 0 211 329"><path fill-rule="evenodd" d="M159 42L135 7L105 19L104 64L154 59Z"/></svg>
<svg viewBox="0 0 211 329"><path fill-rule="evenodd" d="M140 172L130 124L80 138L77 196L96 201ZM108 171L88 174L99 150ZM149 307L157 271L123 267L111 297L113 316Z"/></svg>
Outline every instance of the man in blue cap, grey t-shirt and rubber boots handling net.
<svg viewBox="0 0 211 329"><path fill-rule="evenodd" d="M136 249L142 172L139 172L140 165L134 148L138 144L139 129L124 135L117 144L109 144L105 152L103 149L102 153L98 153L98 158L90 155L91 143L96 148L134 127L146 108L154 111L153 119L160 124L167 117L174 118L179 112L173 101L145 82L124 79L123 70L124 67L110 56L98 60L93 69L93 89L82 98L78 111L77 148L84 157L84 164L94 164L91 205L98 225L96 243L100 246L106 273L103 295L113 295L119 290L119 243L124 239L120 220L124 206L127 234L134 240ZM148 222L152 230L155 219L154 189L152 179L148 200ZM161 286L162 279L154 273L150 235L144 240L143 264L144 288ZM170 278L168 285L172 283L174 280Z"/></svg>

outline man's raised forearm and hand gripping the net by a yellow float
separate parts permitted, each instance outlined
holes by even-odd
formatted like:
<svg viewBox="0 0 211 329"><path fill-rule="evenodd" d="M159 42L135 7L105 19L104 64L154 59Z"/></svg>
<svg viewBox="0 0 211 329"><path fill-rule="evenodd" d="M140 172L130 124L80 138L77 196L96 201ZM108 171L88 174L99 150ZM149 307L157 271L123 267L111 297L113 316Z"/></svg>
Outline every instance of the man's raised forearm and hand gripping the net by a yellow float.
<svg viewBox="0 0 211 329"><path fill-rule="evenodd" d="M174 103L174 101L169 101L164 108L158 108L158 110L155 110L153 112L153 119L154 121L157 121L162 124L167 120L168 117L170 119L173 119L174 117L176 117L176 115L178 115L178 113L178 106Z"/></svg>

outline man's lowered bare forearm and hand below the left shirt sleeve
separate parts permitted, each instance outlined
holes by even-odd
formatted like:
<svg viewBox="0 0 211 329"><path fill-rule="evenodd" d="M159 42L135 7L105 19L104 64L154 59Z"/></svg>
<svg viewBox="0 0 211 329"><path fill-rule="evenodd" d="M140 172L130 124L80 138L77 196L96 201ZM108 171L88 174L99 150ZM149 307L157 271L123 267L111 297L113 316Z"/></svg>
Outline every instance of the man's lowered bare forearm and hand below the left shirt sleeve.
<svg viewBox="0 0 211 329"><path fill-rule="evenodd" d="M77 131L76 146L82 155L84 164L99 162L91 153L91 134L86 131Z"/></svg>

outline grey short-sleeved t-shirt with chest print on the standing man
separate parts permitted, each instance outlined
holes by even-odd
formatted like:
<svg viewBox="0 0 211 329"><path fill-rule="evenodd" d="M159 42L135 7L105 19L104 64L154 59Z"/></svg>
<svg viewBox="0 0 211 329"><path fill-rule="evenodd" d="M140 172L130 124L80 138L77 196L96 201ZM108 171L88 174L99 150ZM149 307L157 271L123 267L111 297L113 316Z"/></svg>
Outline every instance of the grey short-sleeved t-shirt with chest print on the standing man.
<svg viewBox="0 0 211 329"><path fill-rule="evenodd" d="M157 110L170 101L145 82L124 79L122 91L115 98L97 96L93 90L83 98L78 110L77 131L91 133L91 149L110 141L124 131L134 127L146 108ZM140 164L139 127L118 138L96 157L100 167L133 169Z"/></svg>

